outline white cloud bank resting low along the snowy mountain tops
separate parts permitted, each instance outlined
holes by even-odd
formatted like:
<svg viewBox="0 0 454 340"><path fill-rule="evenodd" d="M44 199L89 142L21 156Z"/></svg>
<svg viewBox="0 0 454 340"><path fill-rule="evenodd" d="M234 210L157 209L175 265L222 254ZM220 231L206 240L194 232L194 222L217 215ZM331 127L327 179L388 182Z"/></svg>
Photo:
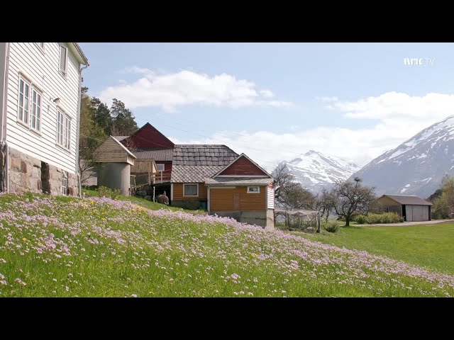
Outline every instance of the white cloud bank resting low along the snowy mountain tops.
<svg viewBox="0 0 454 340"><path fill-rule="evenodd" d="M376 120L370 128L318 127L301 132L216 132L199 142L225 144L236 152L245 152L265 169L271 171L282 159L293 159L309 149L341 157L364 166L389 149L428 126L454 113L454 95L427 94L409 96L389 92L358 101L338 101L333 108L339 119ZM294 122L297 123L297 122ZM172 139L175 142L183 142Z"/></svg>

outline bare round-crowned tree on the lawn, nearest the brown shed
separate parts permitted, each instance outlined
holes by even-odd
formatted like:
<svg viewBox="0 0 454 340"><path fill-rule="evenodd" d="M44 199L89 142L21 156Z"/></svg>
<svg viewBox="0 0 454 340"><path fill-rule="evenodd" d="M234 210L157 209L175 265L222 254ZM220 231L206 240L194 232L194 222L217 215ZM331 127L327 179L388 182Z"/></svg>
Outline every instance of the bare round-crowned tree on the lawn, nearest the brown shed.
<svg viewBox="0 0 454 340"><path fill-rule="evenodd" d="M350 225L350 220L356 215L366 215L375 207L377 200L373 186L362 186L361 179L355 178L354 182L336 181L331 195L336 197L334 210L339 217L345 217L345 226Z"/></svg>

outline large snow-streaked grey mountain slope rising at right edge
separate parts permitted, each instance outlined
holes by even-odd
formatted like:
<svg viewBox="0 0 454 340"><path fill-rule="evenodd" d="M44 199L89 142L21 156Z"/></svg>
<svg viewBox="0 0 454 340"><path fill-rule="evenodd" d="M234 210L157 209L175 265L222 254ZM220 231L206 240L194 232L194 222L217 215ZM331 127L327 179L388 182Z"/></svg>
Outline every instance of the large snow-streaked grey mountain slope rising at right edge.
<svg viewBox="0 0 454 340"><path fill-rule="evenodd" d="M376 193L427 198L439 188L443 175L454 175L454 115L411 137L396 149L372 160L359 176Z"/></svg>

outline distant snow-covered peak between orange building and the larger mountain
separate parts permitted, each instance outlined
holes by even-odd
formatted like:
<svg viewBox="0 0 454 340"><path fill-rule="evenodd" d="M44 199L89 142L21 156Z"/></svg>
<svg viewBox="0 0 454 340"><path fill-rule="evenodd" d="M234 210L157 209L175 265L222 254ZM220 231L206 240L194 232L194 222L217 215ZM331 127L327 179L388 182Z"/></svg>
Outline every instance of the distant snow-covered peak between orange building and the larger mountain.
<svg viewBox="0 0 454 340"><path fill-rule="evenodd" d="M294 175L296 181L314 192L331 185L336 179L348 179L360 169L356 164L314 150L301 154L290 162L282 162L279 166L282 164L286 171Z"/></svg>

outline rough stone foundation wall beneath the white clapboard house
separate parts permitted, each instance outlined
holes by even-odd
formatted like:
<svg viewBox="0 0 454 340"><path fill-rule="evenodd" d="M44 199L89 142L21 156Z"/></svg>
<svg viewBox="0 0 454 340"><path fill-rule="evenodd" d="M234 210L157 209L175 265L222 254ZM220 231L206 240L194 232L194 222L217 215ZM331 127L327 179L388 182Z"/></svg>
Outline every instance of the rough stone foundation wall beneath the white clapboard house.
<svg viewBox="0 0 454 340"><path fill-rule="evenodd" d="M68 195L77 195L77 175L68 174L67 188ZM62 195L62 170L10 148L9 191Z"/></svg>

